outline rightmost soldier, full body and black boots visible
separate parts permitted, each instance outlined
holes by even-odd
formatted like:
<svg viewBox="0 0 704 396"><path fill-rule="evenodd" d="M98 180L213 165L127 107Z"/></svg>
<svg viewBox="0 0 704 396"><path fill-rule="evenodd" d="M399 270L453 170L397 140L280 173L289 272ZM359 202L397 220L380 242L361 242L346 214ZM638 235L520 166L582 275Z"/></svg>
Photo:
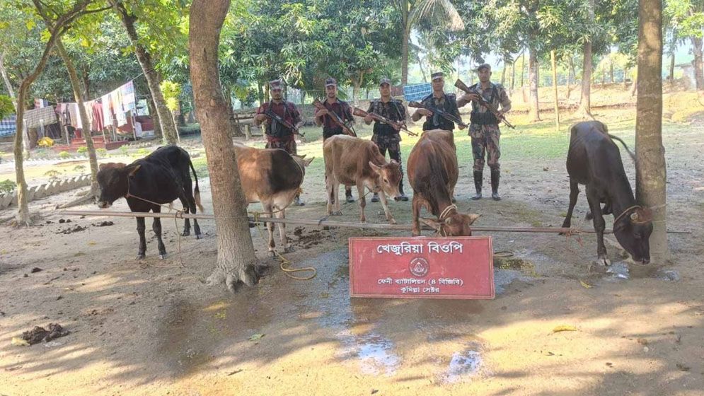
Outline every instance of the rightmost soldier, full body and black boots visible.
<svg viewBox="0 0 704 396"><path fill-rule="evenodd" d="M490 81L491 66L482 64L477 68L479 83L469 87L478 91L487 101L499 109L500 114L511 110L511 100L506 94L504 87ZM477 194L472 199L482 197L482 179L484 172L484 158L488 156L487 163L491 170L491 197L499 201L499 179L501 170L499 158L501 150L499 148L499 120L486 107L478 103L478 94L467 93L457 100L457 105L462 107L467 103L472 103L471 124L469 125L469 136L472 138L472 155L474 157L474 187Z"/></svg>

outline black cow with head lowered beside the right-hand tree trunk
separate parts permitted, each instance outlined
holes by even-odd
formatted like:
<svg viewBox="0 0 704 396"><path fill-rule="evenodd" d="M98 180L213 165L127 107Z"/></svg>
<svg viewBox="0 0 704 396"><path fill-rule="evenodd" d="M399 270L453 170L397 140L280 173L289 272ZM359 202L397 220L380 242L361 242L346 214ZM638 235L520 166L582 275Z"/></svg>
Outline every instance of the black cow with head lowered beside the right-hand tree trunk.
<svg viewBox="0 0 704 396"><path fill-rule="evenodd" d="M604 217L613 214L613 234L633 260L650 262L650 209L636 204L633 190L623 170L621 153L608 134L606 125L599 121L578 122L570 128L570 151L567 153L567 173L570 175L570 208L562 227L570 227L572 209L575 209L578 184L587 186L587 201L596 231L596 253L599 264L608 265L604 246ZM620 139L618 139L620 140ZM623 141L621 141L623 144ZM623 144L625 147L625 144ZM626 147L628 150L628 147ZM601 203L604 209L601 209Z"/></svg>

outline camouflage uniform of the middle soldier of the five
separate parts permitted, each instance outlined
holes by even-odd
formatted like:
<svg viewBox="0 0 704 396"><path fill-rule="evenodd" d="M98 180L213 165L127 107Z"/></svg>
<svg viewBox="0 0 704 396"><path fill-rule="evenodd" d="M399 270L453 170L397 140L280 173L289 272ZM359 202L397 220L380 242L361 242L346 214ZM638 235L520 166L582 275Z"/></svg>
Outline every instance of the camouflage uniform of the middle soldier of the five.
<svg viewBox="0 0 704 396"><path fill-rule="evenodd" d="M400 103L400 100L391 98L390 101L383 103L381 99L374 100L369 103L369 110L367 112L373 112L376 115L381 115L391 121L405 122L405 107ZM388 156L392 160L401 163L401 148L400 141L401 136L398 131L391 127L389 124L384 124L383 122L374 122L374 136L371 136L371 141L374 141L382 156L386 157L386 151L388 150ZM401 170L401 180L399 183L399 190L403 194L403 166Z"/></svg>

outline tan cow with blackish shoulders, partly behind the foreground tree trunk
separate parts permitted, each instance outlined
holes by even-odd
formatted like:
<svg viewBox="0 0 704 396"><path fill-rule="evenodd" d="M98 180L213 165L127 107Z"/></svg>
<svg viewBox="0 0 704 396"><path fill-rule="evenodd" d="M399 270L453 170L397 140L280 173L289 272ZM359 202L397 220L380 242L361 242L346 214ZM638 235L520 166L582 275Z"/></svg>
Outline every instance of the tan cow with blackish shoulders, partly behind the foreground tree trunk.
<svg viewBox="0 0 704 396"><path fill-rule="evenodd" d="M306 160L292 156L279 148L254 148L240 143L235 143L234 146L247 203L261 202L269 217L285 219L285 209L299 193L306 175L306 166L313 162L313 158ZM267 223L267 230L269 253L274 257L274 223ZM294 249L286 237L284 223L279 223L279 237L284 252L292 252Z"/></svg>

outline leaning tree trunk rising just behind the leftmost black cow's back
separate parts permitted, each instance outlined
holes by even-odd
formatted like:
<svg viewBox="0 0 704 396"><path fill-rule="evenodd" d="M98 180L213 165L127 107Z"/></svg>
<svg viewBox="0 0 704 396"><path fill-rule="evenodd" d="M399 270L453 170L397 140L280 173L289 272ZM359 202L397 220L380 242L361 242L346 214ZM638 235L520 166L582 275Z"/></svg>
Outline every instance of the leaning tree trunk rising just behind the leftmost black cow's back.
<svg viewBox="0 0 704 396"><path fill-rule="evenodd" d="M127 11L125 5L118 0L110 0L110 4L112 4L112 7L115 8L115 12L117 13L117 16L120 17L122 25L125 26L127 37L129 37L129 41L132 42L134 54L137 55L139 66L142 66L142 71L144 71L144 77L146 77L146 83L149 86L149 92L151 92L151 98L154 100L159 122L161 123L163 141L165 144L176 144L178 141L178 131L173 123L171 110L168 110L168 107L166 107L166 100L164 100L163 93L161 93L161 87L159 86L161 83L161 78L158 73L156 73L156 69L154 69L154 63L151 61L151 55L147 52L144 45L142 45L142 42L139 42L137 29L134 27L134 22L137 21L137 16Z"/></svg>

